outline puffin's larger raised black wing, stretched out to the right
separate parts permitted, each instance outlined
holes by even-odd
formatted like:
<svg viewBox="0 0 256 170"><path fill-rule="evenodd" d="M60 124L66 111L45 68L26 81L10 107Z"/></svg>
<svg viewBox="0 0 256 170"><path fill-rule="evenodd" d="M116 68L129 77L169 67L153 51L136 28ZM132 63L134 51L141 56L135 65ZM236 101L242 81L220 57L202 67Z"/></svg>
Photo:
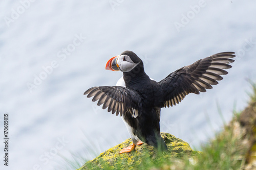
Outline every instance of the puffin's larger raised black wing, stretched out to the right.
<svg viewBox="0 0 256 170"><path fill-rule="evenodd" d="M223 69L232 67L229 63L234 62L230 59L235 57L233 54L233 52L218 53L169 74L159 82L156 106L173 106L179 104L189 93L199 94L211 89L211 85L216 85L217 81L223 79L220 75L228 74Z"/></svg>

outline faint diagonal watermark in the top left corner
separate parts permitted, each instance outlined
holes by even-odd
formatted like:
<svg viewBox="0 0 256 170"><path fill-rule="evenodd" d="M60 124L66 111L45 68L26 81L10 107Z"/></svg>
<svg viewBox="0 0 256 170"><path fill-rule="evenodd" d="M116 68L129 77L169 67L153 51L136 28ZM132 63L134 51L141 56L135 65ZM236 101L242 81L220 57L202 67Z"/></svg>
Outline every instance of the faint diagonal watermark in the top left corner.
<svg viewBox="0 0 256 170"><path fill-rule="evenodd" d="M19 18L20 15L22 15L31 5L31 3L34 3L35 0L20 0L19 6L16 9L11 9L11 15L10 17L5 16L4 20L7 25L7 27L10 27L10 23L14 22Z"/></svg>

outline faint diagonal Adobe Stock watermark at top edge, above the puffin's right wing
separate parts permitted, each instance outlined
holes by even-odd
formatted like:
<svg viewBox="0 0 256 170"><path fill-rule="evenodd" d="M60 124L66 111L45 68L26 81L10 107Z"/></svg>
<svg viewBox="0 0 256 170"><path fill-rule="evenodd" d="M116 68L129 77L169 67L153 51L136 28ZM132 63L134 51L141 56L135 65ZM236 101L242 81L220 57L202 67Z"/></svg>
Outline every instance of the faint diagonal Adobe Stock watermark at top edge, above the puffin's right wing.
<svg viewBox="0 0 256 170"><path fill-rule="evenodd" d="M197 14L201 11L202 8L206 7L205 0L199 0L197 5L189 6L190 10L186 14L181 14L180 22L175 21L174 26L178 32L181 28L184 28L192 19L196 17Z"/></svg>

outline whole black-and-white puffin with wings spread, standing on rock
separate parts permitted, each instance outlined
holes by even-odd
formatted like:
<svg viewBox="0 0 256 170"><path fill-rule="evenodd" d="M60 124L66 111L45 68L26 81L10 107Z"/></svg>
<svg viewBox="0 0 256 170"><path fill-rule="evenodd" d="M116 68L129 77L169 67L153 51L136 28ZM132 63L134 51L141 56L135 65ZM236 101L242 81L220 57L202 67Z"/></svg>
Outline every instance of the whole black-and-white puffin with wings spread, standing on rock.
<svg viewBox="0 0 256 170"><path fill-rule="evenodd" d="M163 107L179 104L187 94L206 92L227 75L234 52L223 52L200 59L184 66L157 82L144 71L143 61L132 51L124 51L111 58L105 69L122 71L123 77L116 86L89 88L84 95L103 104L108 112L120 115L130 133L133 144L119 154L135 150L137 145L147 143L159 151L167 150L160 135L160 111Z"/></svg>

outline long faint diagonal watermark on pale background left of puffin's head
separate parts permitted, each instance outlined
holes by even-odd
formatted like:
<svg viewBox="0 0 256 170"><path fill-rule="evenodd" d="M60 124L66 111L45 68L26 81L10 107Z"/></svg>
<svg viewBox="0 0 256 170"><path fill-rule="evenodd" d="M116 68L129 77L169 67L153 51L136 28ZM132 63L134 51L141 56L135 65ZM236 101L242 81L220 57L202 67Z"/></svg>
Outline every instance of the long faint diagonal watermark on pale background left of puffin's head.
<svg viewBox="0 0 256 170"><path fill-rule="evenodd" d="M37 75L33 75L33 82L27 82L27 87L29 91L32 93L33 89L36 89L42 83L42 81L46 80L48 76L53 73L53 70L59 67L60 62L65 61L67 59L67 56L70 56L72 52L74 52L85 39L86 37L82 36L81 33L79 35L75 34L75 38L73 39L72 43L69 43L65 48L62 48L60 51L57 52L57 58L59 61L52 60L49 65L43 65L41 67L42 71L39 72L39 74Z"/></svg>

